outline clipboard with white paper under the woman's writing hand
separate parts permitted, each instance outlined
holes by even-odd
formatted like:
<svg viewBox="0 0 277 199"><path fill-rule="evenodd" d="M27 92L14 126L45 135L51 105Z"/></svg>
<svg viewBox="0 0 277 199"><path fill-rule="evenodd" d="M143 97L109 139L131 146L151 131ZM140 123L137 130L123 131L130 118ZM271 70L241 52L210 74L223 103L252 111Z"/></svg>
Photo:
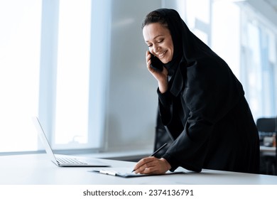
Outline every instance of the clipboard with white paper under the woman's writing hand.
<svg viewBox="0 0 277 199"><path fill-rule="evenodd" d="M174 171L174 172L167 171L164 174L159 174L159 175L151 174L151 175L149 175L149 174L132 173L131 172L132 169L133 168L130 168L130 167L109 168L109 169L101 168L101 169L94 169L94 170L89 171L89 172L101 173L101 174L106 174L106 175L109 175L109 176L119 176L119 177L122 177L122 178L136 178L136 177L143 177L143 176L163 176L163 175L185 173L185 171Z"/></svg>

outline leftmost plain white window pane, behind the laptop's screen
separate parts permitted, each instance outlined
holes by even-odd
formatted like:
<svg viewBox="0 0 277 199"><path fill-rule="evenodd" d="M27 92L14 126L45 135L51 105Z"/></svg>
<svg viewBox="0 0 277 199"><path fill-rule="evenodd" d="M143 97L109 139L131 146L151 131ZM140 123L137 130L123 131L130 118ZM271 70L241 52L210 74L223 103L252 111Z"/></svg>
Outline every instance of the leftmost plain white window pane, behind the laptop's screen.
<svg viewBox="0 0 277 199"><path fill-rule="evenodd" d="M41 4L0 1L0 152L37 149Z"/></svg>

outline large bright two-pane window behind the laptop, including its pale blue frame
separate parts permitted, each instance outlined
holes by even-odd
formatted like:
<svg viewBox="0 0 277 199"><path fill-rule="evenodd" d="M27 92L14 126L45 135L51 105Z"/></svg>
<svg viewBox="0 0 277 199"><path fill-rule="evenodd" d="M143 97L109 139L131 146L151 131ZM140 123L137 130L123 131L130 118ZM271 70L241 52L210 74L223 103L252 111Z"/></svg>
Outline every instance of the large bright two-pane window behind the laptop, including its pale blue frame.
<svg viewBox="0 0 277 199"><path fill-rule="evenodd" d="M53 149L102 146L105 9L103 1L0 0L0 153L43 149L33 116Z"/></svg>

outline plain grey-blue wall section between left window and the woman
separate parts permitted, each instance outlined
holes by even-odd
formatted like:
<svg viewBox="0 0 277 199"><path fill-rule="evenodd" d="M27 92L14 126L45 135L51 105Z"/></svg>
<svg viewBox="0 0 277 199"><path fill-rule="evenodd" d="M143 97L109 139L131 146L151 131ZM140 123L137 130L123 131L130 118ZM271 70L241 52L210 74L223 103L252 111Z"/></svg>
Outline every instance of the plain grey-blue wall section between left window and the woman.
<svg viewBox="0 0 277 199"><path fill-rule="evenodd" d="M156 80L146 69L141 22L161 0L112 1L106 148L151 148L156 125Z"/></svg>

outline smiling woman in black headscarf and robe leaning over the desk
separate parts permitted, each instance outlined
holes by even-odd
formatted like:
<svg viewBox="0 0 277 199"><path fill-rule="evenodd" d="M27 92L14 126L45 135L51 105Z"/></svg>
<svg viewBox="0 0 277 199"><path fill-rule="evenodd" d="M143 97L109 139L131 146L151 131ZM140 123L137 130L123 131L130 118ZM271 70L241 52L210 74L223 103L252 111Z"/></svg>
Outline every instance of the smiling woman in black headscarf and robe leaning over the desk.
<svg viewBox="0 0 277 199"><path fill-rule="evenodd" d="M159 117L173 143L162 158L147 157L135 173L182 166L259 173L259 135L241 83L227 63L190 32L177 11L158 9L143 21L146 64L158 81ZM151 54L164 67L151 67Z"/></svg>

